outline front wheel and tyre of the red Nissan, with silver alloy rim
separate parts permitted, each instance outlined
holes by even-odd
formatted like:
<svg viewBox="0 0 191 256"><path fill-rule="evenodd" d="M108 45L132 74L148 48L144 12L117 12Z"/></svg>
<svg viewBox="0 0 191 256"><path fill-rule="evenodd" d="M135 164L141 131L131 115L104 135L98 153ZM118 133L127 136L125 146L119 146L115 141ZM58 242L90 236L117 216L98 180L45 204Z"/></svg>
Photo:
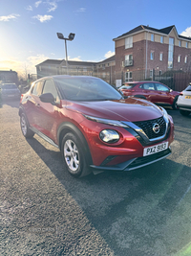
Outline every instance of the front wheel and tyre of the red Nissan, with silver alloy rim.
<svg viewBox="0 0 191 256"><path fill-rule="evenodd" d="M74 133L67 133L62 139L61 153L63 157L64 167L70 175L75 177L89 175L91 173L88 168L85 152L82 152L82 144Z"/></svg>

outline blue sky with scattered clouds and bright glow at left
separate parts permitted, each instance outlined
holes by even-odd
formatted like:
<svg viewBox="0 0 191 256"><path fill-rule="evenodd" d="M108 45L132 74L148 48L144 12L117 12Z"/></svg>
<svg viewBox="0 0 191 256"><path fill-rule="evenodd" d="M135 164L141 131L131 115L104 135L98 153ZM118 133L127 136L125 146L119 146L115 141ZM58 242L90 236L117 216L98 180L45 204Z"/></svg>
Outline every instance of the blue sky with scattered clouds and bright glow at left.
<svg viewBox="0 0 191 256"><path fill-rule="evenodd" d="M149 25L175 25L191 36L190 0L0 0L0 70L35 74L35 65L51 59L101 61L115 54L119 35Z"/></svg>

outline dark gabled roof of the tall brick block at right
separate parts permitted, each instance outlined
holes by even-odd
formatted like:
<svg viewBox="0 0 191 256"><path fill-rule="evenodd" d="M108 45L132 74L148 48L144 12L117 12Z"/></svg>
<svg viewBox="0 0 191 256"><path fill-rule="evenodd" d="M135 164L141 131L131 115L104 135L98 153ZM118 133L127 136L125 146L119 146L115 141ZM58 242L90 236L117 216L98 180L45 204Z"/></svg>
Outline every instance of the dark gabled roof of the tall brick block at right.
<svg viewBox="0 0 191 256"><path fill-rule="evenodd" d="M169 26L169 27L166 27L166 28L163 28L163 29L155 29L155 28L152 28L152 27L149 27L149 26L145 26L145 25L139 25L138 27L136 27L135 29L125 33L125 34L122 34L122 35L119 35L117 36L116 38L114 38L113 40L117 40L117 39L120 39L122 37L125 37L126 35L132 35L132 34L135 34L135 33L138 33L140 31L144 31L144 30L147 30L147 31L152 31L152 32L156 32L156 33L159 33L159 34L165 34L165 35L169 35L169 33L172 31L172 29L175 28L176 30L176 27L175 25L172 25L172 26ZM177 30L176 30L177 32ZM177 33L178 35L178 33ZM186 36L182 36L182 35L178 35L179 37L183 38L183 39L187 39L187 40L191 40L190 37L186 37Z"/></svg>

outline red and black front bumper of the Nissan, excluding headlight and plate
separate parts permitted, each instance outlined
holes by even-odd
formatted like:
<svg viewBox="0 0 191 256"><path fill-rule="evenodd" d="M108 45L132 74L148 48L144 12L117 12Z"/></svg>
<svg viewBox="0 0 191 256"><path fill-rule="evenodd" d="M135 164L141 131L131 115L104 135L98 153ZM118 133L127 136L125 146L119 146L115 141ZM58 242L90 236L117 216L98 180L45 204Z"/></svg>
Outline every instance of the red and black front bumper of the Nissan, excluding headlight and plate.
<svg viewBox="0 0 191 256"><path fill-rule="evenodd" d="M174 140L174 124L169 116L169 125L163 138L156 141L144 140L141 132L134 128L114 128L86 120L81 123L83 130L86 130L85 137L89 144L95 170L131 171L137 168L152 164L167 157L171 153L170 144ZM99 138L99 132L105 128L113 128L120 134L120 139L113 145L103 143ZM158 146L168 142L168 149L159 151L152 155L143 156L147 147Z"/></svg>

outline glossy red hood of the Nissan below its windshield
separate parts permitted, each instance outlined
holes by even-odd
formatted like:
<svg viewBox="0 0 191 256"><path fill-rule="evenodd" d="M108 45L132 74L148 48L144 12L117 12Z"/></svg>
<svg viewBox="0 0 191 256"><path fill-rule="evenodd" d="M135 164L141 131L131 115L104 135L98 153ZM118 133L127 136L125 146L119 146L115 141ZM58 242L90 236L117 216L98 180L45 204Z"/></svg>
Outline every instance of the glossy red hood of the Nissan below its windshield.
<svg viewBox="0 0 191 256"><path fill-rule="evenodd" d="M152 120L162 115L157 105L133 97L118 101L68 102L66 107L81 114L126 122Z"/></svg>

